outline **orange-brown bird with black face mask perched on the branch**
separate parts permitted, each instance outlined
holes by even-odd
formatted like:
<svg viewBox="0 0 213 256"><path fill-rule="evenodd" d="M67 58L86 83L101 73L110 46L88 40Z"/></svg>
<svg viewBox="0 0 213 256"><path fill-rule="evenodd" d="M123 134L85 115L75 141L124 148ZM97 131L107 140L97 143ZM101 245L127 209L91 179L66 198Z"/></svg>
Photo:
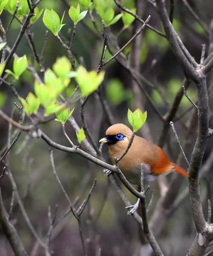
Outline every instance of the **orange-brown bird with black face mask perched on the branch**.
<svg viewBox="0 0 213 256"><path fill-rule="evenodd" d="M115 163L114 158L121 157L131 137L130 128L124 124L115 124L107 129L106 136L99 142L108 144L109 157L112 163ZM158 175L173 171L187 177L187 171L172 163L160 147L135 135L132 145L127 154L118 162L118 166L130 183L139 185L141 163L143 163L144 184L153 181Z"/></svg>

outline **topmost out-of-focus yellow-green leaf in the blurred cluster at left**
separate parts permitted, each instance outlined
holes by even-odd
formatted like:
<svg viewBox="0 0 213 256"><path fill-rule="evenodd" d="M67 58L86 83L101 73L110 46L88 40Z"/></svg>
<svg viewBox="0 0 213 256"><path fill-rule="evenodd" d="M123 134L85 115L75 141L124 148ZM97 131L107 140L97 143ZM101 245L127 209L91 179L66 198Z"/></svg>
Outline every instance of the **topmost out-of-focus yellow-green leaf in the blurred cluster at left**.
<svg viewBox="0 0 213 256"><path fill-rule="evenodd" d="M71 72L71 63L65 56L57 58L52 67L56 75L61 79L69 78Z"/></svg>

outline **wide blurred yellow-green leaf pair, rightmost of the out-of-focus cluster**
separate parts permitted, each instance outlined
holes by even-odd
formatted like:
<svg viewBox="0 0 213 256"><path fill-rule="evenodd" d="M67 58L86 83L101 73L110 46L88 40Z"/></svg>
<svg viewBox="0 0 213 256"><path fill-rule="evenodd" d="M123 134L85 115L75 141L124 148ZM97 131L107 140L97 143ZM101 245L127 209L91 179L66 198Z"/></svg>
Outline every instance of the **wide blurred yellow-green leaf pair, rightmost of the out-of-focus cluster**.
<svg viewBox="0 0 213 256"><path fill-rule="evenodd" d="M76 72L75 80L81 90L83 97L93 93L104 80L104 71L97 74L95 70L87 71L83 66L79 66Z"/></svg>

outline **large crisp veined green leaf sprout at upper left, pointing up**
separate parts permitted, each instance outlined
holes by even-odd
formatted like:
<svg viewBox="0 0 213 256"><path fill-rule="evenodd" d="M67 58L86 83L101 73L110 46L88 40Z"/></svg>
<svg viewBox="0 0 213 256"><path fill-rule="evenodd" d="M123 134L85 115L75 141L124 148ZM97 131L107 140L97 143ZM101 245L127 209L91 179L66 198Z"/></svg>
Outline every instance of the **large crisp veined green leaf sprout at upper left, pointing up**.
<svg viewBox="0 0 213 256"><path fill-rule="evenodd" d="M45 11L44 11L43 23L55 36L58 35L58 32L65 25L65 24L62 24L64 13L60 20L57 12L55 12L53 9L51 9L51 10L45 9Z"/></svg>

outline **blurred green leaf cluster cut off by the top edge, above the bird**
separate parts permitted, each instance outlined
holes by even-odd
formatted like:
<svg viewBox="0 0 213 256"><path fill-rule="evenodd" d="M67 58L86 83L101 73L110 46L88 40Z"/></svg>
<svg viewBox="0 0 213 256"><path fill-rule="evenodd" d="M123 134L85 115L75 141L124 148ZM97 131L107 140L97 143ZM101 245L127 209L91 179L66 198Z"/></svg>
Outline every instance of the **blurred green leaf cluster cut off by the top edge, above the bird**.
<svg viewBox="0 0 213 256"><path fill-rule="evenodd" d="M115 11L112 7L109 7L106 0L96 0L95 1L96 12L104 20L106 26L111 26L115 24L121 17L122 13L115 16Z"/></svg>

